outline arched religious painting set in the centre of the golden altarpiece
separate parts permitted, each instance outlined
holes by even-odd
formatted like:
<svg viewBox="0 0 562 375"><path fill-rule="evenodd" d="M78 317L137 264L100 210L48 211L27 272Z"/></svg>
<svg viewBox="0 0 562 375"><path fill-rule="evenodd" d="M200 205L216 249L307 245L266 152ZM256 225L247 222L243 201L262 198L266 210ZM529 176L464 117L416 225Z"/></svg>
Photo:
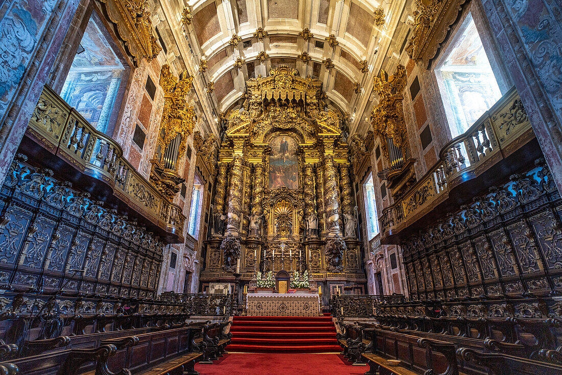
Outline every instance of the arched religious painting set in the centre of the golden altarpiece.
<svg viewBox="0 0 562 375"><path fill-rule="evenodd" d="M287 186L298 188L297 141L292 137L280 135L271 140L269 157L269 188Z"/></svg>

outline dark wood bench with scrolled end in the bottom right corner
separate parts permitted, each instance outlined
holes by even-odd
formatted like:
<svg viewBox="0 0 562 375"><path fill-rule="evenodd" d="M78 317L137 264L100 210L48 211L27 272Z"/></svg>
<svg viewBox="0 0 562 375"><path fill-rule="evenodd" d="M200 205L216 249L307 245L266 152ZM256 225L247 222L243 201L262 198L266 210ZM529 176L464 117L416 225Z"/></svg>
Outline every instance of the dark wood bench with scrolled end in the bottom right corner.
<svg viewBox="0 0 562 375"><path fill-rule="evenodd" d="M488 369L490 375L561 375L562 366L499 353L483 353L461 347L457 350L461 361L473 362Z"/></svg>

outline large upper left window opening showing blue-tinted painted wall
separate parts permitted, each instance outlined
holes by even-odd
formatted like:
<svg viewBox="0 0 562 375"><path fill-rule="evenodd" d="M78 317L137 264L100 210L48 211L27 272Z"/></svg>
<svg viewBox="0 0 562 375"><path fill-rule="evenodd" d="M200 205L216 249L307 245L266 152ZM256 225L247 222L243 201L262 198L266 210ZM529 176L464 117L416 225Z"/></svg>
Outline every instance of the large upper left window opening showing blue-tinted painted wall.
<svg viewBox="0 0 562 375"><path fill-rule="evenodd" d="M114 104L125 67L94 17L90 17L74 61L62 87L61 97L96 129L108 129L117 110Z"/></svg>

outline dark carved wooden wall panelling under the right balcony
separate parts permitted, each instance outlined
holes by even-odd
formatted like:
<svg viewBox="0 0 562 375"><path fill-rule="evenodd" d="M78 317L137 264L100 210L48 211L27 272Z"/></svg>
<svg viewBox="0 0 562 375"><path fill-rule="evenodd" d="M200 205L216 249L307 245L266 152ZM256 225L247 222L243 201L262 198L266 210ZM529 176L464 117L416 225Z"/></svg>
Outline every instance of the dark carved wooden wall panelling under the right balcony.
<svg viewBox="0 0 562 375"><path fill-rule="evenodd" d="M550 171L541 161L537 166L402 243L411 294L450 298L562 288L562 202L549 184Z"/></svg>

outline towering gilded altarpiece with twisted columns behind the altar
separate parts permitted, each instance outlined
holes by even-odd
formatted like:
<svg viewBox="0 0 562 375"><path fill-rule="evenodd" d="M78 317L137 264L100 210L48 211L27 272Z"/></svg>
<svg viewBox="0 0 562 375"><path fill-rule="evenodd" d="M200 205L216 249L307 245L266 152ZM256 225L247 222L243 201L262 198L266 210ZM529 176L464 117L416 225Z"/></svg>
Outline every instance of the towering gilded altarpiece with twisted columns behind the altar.
<svg viewBox="0 0 562 375"><path fill-rule="evenodd" d="M324 97L286 66L247 82L244 108L225 118L202 283L308 270L365 284L349 149Z"/></svg>

